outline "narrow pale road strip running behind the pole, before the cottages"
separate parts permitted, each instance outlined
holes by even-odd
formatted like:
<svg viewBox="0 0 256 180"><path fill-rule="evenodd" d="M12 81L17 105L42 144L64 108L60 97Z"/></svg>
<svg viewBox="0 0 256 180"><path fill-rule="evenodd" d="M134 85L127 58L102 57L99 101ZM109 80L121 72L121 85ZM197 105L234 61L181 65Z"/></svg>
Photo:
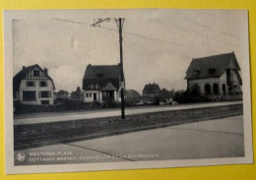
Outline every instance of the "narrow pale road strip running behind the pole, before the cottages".
<svg viewBox="0 0 256 180"><path fill-rule="evenodd" d="M224 105L241 104L241 103L242 101L232 101L232 102L186 104L186 105L176 105L176 106L138 107L138 108L128 108L126 109L125 113L126 115L132 115L132 114L142 114L142 113L149 113L149 112L194 109L194 108L224 106ZM102 111L97 110L92 112L78 112L78 113L62 113L62 114L55 113L55 114L45 114L41 116L33 115L31 117L29 116L29 117L15 118L14 125L92 119L92 118L111 117L111 116L120 116L120 115L121 115L121 112L119 109L102 110Z"/></svg>

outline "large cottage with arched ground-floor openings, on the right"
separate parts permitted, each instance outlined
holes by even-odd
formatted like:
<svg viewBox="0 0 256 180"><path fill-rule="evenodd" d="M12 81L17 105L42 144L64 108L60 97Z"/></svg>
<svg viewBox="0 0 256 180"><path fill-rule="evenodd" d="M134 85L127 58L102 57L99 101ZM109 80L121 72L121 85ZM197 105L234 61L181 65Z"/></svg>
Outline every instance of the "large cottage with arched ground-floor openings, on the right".
<svg viewBox="0 0 256 180"><path fill-rule="evenodd" d="M242 97L240 67L234 53L193 59L187 71L187 90L215 100Z"/></svg>

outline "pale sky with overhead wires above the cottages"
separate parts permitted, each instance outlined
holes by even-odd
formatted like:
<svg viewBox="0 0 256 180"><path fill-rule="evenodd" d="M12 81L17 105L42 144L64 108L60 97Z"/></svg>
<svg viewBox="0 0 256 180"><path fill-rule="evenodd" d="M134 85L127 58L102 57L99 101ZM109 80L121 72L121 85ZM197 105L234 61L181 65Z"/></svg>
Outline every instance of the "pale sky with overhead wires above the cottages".
<svg viewBox="0 0 256 180"><path fill-rule="evenodd" d="M248 55L247 12L239 10L24 11L13 20L15 76L23 66L48 69L56 90L76 90L88 64L120 61L114 18L124 18L126 89L149 83L185 90L193 58L234 52L241 69ZM96 18L110 18L100 27Z"/></svg>

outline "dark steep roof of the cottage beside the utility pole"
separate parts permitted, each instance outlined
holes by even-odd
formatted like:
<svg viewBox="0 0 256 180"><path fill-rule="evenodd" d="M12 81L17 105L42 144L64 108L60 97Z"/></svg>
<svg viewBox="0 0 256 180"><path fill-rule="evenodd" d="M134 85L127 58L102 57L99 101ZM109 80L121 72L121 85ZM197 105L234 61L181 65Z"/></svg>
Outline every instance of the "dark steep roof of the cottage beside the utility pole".
<svg viewBox="0 0 256 180"><path fill-rule="evenodd" d="M87 90L88 85L99 85L104 88L108 83L111 89L119 90L120 88L120 65L88 65L84 78L83 90ZM108 86L109 88L109 86Z"/></svg>

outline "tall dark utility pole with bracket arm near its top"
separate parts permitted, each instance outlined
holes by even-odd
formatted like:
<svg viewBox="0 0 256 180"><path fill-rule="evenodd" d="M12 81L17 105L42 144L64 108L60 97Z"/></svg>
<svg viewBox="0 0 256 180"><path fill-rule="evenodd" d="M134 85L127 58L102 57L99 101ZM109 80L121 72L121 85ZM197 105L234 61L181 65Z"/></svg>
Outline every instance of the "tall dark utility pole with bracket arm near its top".
<svg viewBox="0 0 256 180"><path fill-rule="evenodd" d="M125 119L125 112L124 112L124 106L125 106L125 101L124 101L124 88L125 88L125 83L124 83L124 73L123 73L123 37L122 37L122 31L123 31L123 24L124 24L124 18L118 18L114 19L118 28L119 32L119 43L120 43L120 77L121 77L121 117L122 119ZM92 25L93 27L100 27L99 24L102 22L109 22L110 18L106 19L97 19L97 22Z"/></svg>

